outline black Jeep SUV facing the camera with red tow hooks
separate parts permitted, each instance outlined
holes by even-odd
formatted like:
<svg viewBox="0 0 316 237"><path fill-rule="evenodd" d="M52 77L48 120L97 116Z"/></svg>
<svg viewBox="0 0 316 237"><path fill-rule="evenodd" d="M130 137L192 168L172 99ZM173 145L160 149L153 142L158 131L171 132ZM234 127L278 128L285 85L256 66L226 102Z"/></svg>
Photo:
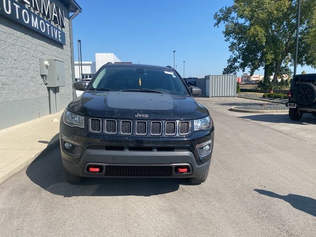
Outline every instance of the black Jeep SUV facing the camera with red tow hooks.
<svg viewBox="0 0 316 237"><path fill-rule="evenodd" d="M171 67L104 65L72 101L60 122L66 179L83 177L206 180L214 124Z"/></svg>

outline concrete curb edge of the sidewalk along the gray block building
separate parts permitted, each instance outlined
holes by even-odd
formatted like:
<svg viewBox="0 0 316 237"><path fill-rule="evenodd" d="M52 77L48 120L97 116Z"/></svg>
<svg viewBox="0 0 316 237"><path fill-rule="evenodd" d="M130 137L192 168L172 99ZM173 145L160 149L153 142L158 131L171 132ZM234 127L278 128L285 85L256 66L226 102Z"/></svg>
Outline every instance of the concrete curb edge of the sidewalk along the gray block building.
<svg viewBox="0 0 316 237"><path fill-rule="evenodd" d="M21 170L25 169L28 167L34 160L37 158L40 158L41 156L47 154L54 148L56 148L59 145L59 133L56 134L47 144L47 147L41 150L38 154L32 157L27 157L23 160L23 162L19 163L17 166L14 167L14 169L4 173L3 175L0 176L0 184L4 183L6 180L9 178L13 177L16 175L18 172Z"/></svg>

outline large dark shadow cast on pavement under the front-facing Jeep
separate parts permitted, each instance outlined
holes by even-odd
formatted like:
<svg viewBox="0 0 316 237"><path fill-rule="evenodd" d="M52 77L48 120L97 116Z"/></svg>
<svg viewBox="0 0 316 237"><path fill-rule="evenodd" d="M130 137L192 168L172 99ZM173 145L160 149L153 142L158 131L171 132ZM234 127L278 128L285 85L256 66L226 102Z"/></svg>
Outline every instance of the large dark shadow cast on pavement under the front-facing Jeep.
<svg viewBox="0 0 316 237"><path fill-rule="evenodd" d="M60 149L34 160L26 170L32 182L59 196L154 196L171 193L186 184L184 179L87 178L81 185L65 182Z"/></svg>

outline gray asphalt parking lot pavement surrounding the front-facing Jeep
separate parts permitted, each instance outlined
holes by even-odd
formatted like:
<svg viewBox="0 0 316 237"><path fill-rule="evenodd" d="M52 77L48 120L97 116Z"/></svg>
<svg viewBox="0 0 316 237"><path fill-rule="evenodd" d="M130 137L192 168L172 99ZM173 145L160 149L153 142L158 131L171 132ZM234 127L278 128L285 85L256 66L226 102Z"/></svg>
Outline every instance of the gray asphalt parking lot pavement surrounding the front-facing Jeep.
<svg viewBox="0 0 316 237"><path fill-rule="evenodd" d="M215 123L205 183L64 182L59 148L0 185L0 227L11 236L314 237L316 117L228 109L239 98L198 98Z"/></svg>

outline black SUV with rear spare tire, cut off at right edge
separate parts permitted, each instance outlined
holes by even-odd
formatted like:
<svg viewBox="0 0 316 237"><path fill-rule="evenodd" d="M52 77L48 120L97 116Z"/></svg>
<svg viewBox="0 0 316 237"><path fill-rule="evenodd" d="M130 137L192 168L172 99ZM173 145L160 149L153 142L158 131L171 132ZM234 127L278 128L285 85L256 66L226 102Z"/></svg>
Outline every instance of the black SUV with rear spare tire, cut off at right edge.
<svg viewBox="0 0 316 237"><path fill-rule="evenodd" d="M287 95L292 120L300 120L304 113L316 116L316 74L296 75Z"/></svg>

